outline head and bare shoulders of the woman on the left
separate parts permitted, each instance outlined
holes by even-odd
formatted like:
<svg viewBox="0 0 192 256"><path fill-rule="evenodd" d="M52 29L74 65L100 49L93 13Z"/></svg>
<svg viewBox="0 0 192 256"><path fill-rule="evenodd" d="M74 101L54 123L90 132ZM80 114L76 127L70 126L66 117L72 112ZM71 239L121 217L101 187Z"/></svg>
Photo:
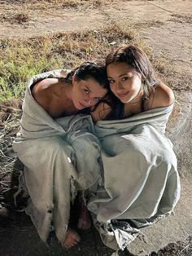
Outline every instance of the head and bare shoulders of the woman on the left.
<svg viewBox="0 0 192 256"><path fill-rule="evenodd" d="M66 72L66 71L65 71ZM33 98L50 117L64 117L89 110L107 94L105 67L85 62L66 77L46 77L31 86Z"/></svg>

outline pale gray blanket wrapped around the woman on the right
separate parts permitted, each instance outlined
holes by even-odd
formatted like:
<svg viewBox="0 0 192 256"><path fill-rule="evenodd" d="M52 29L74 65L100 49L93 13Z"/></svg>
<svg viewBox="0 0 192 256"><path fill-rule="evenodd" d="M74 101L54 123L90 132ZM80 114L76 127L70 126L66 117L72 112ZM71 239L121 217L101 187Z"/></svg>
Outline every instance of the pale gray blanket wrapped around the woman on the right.
<svg viewBox="0 0 192 256"><path fill-rule="evenodd" d="M98 121L95 126L104 187L90 196L88 208L103 242L113 249L116 241L124 249L133 240L137 230L132 227L170 214L180 197L177 158L164 135L172 108L173 104L123 120Z"/></svg>

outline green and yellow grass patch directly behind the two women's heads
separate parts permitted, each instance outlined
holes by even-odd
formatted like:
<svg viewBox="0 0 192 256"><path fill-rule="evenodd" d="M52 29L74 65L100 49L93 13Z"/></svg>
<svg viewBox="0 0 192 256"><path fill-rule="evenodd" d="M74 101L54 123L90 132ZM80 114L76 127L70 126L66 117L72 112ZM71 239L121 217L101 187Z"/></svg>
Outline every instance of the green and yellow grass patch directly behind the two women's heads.
<svg viewBox="0 0 192 256"><path fill-rule="evenodd" d="M29 77L58 68L74 68L85 60L102 60L112 48L135 41L127 24L98 30L55 33L0 42L0 99L23 97Z"/></svg>

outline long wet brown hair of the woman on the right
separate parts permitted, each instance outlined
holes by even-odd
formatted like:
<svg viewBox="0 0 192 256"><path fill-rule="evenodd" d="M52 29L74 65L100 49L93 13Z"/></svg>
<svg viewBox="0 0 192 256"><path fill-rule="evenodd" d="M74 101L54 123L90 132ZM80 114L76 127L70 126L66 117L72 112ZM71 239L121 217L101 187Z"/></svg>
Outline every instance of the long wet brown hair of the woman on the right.
<svg viewBox="0 0 192 256"><path fill-rule="evenodd" d="M151 91L154 90L155 85L159 82L159 80L155 77L155 72L152 67L151 61L149 60L145 52L137 46L121 46L116 51L113 51L107 55L106 67L107 65L115 62L128 64L129 66L134 68L136 73L142 75L142 99L149 99ZM115 106L114 104L111 104L111 114L108 115L107 119L124 118L124 104L120 103L120 100L114 99L114 97L113 99L111 99L111 102L112 101L114 101Z"/></svg>

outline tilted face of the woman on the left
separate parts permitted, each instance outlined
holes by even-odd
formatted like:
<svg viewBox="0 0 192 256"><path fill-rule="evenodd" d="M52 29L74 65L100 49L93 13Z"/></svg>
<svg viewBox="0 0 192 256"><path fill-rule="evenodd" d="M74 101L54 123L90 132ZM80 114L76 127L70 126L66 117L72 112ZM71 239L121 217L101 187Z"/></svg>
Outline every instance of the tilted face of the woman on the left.
<svg viewBox="0 0 192 256"><path fill-rule="evenodd" d="M94 106L107 94L107 89L92 78L77 81L74 77L72 85L72 101L80 110Z"/></svg>

